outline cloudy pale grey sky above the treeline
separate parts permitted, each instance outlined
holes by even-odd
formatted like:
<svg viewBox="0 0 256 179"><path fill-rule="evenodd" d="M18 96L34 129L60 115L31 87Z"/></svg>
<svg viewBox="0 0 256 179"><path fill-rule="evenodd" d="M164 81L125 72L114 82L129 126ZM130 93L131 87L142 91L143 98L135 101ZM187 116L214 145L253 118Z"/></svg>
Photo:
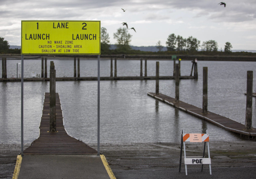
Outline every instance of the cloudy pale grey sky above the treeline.
<svg viewBox="0 0 256 179"><path fill-rule="evenodd" d="M21 44L21 20L100 20L110 44L126 22L130 45L166 46L168 35L215 40L224 50L256 50L256 1L226 0L1 0L0 37ZM121 9L126 10L123 12Z"/></svg>

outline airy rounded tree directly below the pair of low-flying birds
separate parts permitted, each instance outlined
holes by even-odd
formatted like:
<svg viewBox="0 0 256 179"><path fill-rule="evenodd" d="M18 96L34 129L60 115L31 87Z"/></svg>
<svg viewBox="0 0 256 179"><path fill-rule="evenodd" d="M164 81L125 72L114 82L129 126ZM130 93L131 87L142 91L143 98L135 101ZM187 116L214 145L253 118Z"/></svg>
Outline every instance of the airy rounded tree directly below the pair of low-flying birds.
<svg viewBox="0 0 256 179"><path fill-rule="evenodd" d="M131 50L130 42L131 42L132 35L128 33L126 27L117 29L117 32L114 33L114 39L116 39L117 49L120 50Z"/></svg>

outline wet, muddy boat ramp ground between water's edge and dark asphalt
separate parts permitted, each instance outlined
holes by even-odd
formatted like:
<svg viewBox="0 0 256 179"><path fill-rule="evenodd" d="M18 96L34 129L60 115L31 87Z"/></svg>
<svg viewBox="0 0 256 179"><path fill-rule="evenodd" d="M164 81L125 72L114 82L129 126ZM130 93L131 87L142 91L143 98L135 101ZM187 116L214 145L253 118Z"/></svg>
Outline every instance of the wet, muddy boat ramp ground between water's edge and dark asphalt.
<svg viewBox="0 0 256 179"><path fill-rule="evenodd" d="M97 144L87 143L94 149ZM29 144L24 145L24 149ZM213 141L209 142L212 171L219 167L227 167L243 170L244 168L256 168L256 141ZM0 178L12 178L17 155L20 153L20 144L0 144ZM186 144L187 156L201 155L203 144ZM113 173L118 178L127 178L135 173L149 173L150 171L167 171L179 168L180 143L128 143L110 144L101 143L100 152L105 156ZM188 165L188 174L191 168L198 168L195 165ZM184 164L182 174L185 173ZM205 167L205 176L208 176L208 166ZM206 172L207 171L207 172ZM255 174L255 172L254 172ZM254 175L253 172L251 176ZM132 178L132 177L131 177ZM138 177L139 178L139 177ZM149 177L150 178L150 177Z"/></svg>

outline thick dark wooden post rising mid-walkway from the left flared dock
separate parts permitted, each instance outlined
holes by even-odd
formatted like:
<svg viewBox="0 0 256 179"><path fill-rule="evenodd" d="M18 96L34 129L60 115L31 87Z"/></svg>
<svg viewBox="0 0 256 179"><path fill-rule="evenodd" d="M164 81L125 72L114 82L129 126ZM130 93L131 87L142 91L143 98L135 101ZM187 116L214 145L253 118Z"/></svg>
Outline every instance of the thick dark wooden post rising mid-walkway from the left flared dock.
<svg viewBox="0 0 256 179"><path fill-rule="evenodd" d="M50 132L56 130L56 70L54 62L50 63Z"/></svg>

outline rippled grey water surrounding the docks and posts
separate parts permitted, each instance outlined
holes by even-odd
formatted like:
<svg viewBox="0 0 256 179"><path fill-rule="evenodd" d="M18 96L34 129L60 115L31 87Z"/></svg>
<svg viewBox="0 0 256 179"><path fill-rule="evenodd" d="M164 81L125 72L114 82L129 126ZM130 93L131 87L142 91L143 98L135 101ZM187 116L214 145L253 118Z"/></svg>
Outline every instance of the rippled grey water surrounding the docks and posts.
<svg viewBox="0 0 256 179"><path fill-rule="evenodd" d="M73 76L73 59L48 59L48 65L50 61L55 63L57 77ZM8 77L16 77L16 64L19 62L7 61ZM147 61L148 76L155 75L155 63ZM181 74L189 75L191 65L190 61L182 61ZM180 100L200 108L204 66L208 67L208 110L244 124L247 70L255 71L256 63L198 62L198 80L180 81ZM118 61L117 68L118 76L139 76L140 61ZM109 76L110 60L101 60L100 70L101 76ZM30 77L31 71L41 74L41 60L24 60L24 77ZM173 62L160 61L160 75L172 73ZM97 76L97 60L80 58L80 74ZM20 143L20 88L20 82L0 82L0 143ZM39 135L45 92L49 92L49 82L24 82L25 143L32 142ZM88 144L97 144L97 81L56 81L56 92L60 95L69 135ZM155 92L155 80L100 82L102 143L179 142L182 129L187 133L203 133L208 129L210 141L244 140L239 135L155 100L147 96L147 92ZM174 97L175 81L160 80L159 92ZM255 108L256 100L253 98L254 127Z"/></svg>

